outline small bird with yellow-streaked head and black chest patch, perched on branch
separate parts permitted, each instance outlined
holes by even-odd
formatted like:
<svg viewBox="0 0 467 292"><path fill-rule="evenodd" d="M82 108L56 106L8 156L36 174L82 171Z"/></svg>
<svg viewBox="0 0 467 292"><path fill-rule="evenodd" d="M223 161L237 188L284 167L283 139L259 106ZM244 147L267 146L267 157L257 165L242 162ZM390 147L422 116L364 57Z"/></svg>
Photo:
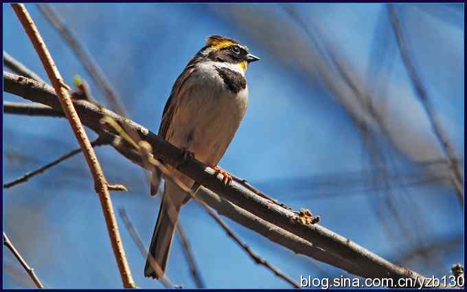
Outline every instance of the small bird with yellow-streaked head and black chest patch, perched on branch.
<svg viewBox="0 0 467 292"><path fill-rule="evenodd" d="M231 177L217 164L247 110L245 71L249 63L256 60L260 58L249 54L249 49L237 41L225 36L209 36L205 46L176 79L163 110L159 137L212 166L223 174L225 183ZM188 188L194 186L190 177L170 166L168 169ZM151 194L154 195L159 188L160 172L155 171L152 176ZM161 270L153 269L148 256L144 276L159 279L164 275L179 212L190 197L166 179L149 248L149 254Z"/></svg>

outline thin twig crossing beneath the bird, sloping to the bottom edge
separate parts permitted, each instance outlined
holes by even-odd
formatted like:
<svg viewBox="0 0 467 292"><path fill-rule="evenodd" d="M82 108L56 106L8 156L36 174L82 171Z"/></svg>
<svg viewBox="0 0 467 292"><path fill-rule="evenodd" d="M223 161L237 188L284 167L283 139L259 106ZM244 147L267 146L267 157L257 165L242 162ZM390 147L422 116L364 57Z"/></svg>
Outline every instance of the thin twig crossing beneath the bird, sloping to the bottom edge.
<svg viewBox="0 0 467 292"><path fill-rule="evenodd" d="M152 147L150 146L150 144L148 142L145 142L145 141L144 142L139 142L139 147L141 148L142 156L144 156L144 158L145 157L150 158L149 153L152 153ZM146 152L146 155L144 155L145 154L144 152ZM161 170L161 172L163 173L163 176L164 176L165 179L168 179L168 180L172 181L181 190L183 190L187 194L190 194L192 199L194 199L194 201L196 201L196 203L198 203L198 205L200 205L207 212L207 214L209 214L209 216L211 216L214 219L214 221L216 221L218 223L218 225L220 225L220 227L222 227L222 229L224 229L224 231L227 233L227 235L230 236L232 239L234 239L234 241L238 245L240 245L240 247L242 247L242 249L244 251L246 251L247 254L258 265L263 265L264 267L266 267L266 269L269 269L276 276L278 276L279 278L282 278L283 280L285 280L286 282L291 284L293 287L300 288L300 286L299 286L299 284L297 282L295 282L294 280L292 280L291 278L286 276L286 274L282 273L282 271L280 271L279 269L273 267L273 265L271 265L269 262L267 262L266 260L264 260L263 258L258 256L258 254L255 254L253 251L251 251L250 247L248 245L246 245L245 243L243 243L242 240L240 240L240 238L238 238L238 236L236 236L236 234L234 234L234 232L232 232L231 229L224 223L224 221L216 213L212 212L212 210L206 205L205 202L200 201L196 197L193 190L197 189L197 188L188 188L187 186L185 186L185 184L183 184L179 179L174 177L172 175L172 173L165 166L163 166L159 161L157 161L156 159L151 159L149 162L150 162L150 164L156 166L157 168L159 168L159 170Z"/></svg>

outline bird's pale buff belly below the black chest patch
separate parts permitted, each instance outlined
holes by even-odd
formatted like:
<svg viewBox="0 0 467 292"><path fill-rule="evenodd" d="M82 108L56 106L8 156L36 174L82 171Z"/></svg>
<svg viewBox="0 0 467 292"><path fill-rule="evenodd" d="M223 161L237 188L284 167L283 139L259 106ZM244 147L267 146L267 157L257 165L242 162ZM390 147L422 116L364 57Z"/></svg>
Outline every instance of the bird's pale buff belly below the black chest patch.
<svg viewBox="0 0 467 292"><path fill-rule="evenodd" d="M248 91L203 89L181 102L168 129L168 142L215 166L223 157L247 109Z"/></svg>

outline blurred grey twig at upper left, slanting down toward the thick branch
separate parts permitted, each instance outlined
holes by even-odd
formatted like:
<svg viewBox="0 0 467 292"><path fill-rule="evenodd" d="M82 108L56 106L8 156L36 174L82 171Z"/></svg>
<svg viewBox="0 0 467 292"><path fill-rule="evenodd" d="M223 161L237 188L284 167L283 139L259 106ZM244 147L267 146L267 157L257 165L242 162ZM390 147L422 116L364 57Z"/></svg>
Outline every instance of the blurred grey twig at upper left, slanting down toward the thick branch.
<svg viewBox="0 0 467 292"><path fill-rule="evenodd" d="M104 91L105 96L111 102L112 107L120 115L127 116L124 106L122 106L121 98L119 97L117 91L113 89L109 80L107 80L104 71L99 67L97 63L93 60L92 56L87 53L85 46L81 43L78 36L74 34L68 27L65 25L65 21L58 15L52 5L49 4L37 4L39 10L45 16L45 19L49 21L56 30L60 33L60 36L65 38L65 41L70 45L73 52L76 56L80 58L84 68L95 80L97 85L102 91Z"/></svg>

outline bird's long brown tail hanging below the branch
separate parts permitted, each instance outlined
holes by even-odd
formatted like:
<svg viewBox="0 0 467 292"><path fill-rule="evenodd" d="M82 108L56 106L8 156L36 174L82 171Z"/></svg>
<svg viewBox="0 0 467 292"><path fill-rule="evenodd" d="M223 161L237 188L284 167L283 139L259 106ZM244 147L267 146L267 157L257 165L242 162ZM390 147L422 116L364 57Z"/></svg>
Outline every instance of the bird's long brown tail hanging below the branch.
<svg viewBox="0 0 467 292"><path fill-rule="evenodd" d="M185 196L187 194L178 186L171 181L166 181L157 223L154 234L152 234L148 258L146 259L146 267L144 267L144 276L146 277L160 279L166 272L170 246L172 245L176 223L179 220L179 213Z"/></svg>

